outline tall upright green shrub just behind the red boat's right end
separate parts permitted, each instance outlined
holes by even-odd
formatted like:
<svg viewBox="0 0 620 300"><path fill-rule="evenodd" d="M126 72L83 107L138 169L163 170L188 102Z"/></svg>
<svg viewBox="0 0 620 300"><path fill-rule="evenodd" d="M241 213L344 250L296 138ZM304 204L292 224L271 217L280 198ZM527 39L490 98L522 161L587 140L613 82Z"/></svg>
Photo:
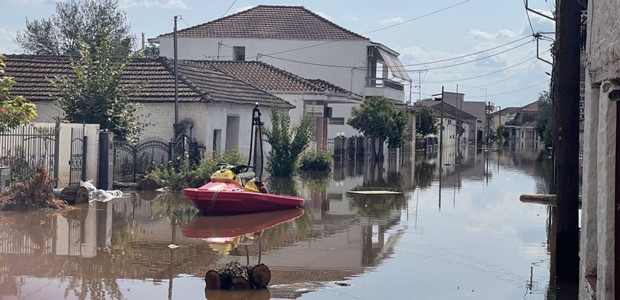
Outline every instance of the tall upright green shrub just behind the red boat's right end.
<svg viewBox="0 0 620 300"><path fill-rule="evenodd" d="M275 177L290 177L295 171L295 162L308 147L312 138L312 118L302 117L296 127L290 128L288 114L274 108L271 111L271 129L265 130L271 151L267 157L267 170Z"/></svg>

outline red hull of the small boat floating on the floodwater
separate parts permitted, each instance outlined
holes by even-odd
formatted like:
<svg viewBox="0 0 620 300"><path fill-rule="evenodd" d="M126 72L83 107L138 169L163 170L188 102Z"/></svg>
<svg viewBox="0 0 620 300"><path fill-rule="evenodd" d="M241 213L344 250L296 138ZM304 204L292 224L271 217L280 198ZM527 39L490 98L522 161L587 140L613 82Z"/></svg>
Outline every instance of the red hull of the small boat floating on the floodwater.
<svg viewBox="0 0 620 300"><path fill-rule="evenodd" d="M284 210L303 206L305 202L303 198L295 196L248 192L233 183L222 182L210 182L199 188L186 188L183 196L207 215Z"/></svg>

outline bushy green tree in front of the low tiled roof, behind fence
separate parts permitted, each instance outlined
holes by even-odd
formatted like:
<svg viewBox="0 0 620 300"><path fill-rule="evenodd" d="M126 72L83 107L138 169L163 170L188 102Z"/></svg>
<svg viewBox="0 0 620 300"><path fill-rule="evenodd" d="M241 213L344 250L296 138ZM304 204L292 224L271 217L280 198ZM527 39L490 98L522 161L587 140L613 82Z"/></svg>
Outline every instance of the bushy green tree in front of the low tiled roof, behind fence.
<svg viewBox="0 0 620 300"><path fill-rule="evenodd" d="M101 41L94 52L83 45L80 56L71 61L75 76L51 81L60 93L56 104L70 122L99 124L118 140L135 141L146 124L137 115L140 106L129 102L135 87L121 85L131 57L115 58L107 35L98 35Z"/></svg>

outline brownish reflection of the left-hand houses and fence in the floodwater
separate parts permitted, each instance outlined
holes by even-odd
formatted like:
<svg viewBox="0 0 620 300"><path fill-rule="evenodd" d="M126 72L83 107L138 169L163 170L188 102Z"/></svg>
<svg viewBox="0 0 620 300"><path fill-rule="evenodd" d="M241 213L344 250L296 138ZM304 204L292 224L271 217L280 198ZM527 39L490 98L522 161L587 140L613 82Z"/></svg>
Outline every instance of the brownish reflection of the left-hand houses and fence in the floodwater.
<svg viewBox="0 0 620 300"><path fill-rule="evenodd" d="M181 226L190 222L193 209L184 200L157 196L146 201L130 194L93 202L73 216L45 219L43 214L3 213L3 276L28 288L33 278L68 278L68 293L122 295L117 280L172 285L173 279L181 280L176 279L180 274L202 278L207 270L227 261L245 262L246 254L250 263L256 263L260 253L272 270L272 285L320 283L345 280L380 264L403 233L398 226L401 209L387 206L389 210L380 217L360 217L363 206L356 206L346 195L341 205L332 205L326 198L309 200L306 219L266 229L260 238L239 244L225 256L202 239L183 236ZM327 209L312 208L317 200L327 203ZM179 247L171 249L170 244ZM9 290L20 295L19 287ZM272 295L279 293L279 288L272 290Z"/></svg>

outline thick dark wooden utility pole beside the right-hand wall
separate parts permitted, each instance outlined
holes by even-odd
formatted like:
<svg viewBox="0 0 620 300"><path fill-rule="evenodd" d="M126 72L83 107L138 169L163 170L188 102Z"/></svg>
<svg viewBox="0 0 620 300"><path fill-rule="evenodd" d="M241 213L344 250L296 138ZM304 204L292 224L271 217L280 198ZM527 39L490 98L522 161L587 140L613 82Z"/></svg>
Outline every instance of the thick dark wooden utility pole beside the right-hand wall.
<svg viewBox="0 0 620 300"><path fill-rule="evenodd" d="M554 166L557 195L556 280L579 279L579 70L581 9L575 0L556 1Z"/></svg>

